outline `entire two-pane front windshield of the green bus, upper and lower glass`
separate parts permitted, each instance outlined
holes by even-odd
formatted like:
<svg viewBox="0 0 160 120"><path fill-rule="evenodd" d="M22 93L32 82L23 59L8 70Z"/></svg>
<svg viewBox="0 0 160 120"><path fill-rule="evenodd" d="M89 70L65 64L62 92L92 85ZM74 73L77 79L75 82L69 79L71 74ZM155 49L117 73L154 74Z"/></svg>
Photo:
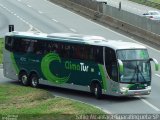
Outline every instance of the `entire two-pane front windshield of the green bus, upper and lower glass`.
<svg viewBox="0 0 160 120"><path fill-rule="evenodd" d="M118 59L122 60L124 72L120 75L123 83L145 83L151 80L151 67L147 50L119 50Z"/></svg>

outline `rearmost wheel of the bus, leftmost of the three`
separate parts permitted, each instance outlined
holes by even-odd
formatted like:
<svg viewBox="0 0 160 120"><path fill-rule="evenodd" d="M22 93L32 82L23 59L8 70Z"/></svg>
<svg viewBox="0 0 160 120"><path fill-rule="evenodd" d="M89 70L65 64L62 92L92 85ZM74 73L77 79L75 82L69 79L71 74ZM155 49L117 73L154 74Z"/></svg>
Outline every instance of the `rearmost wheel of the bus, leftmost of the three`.
<svg viewBox="0 0 160 120"><path fill-rule="evenodd" d="M21 72L21 73L19 74L19 80L21 81L21 83L22 83L24 86L29 85L28 75L27 75L26 72Z"/></svg>

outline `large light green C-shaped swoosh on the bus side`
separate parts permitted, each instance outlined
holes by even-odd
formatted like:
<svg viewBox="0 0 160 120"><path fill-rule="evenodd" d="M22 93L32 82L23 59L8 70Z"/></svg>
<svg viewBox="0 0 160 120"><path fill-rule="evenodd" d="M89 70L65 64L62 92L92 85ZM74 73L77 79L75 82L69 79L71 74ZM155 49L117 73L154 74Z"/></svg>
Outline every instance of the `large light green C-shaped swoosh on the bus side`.
<svg viewBox="0 0 160 120"><path fill-rule="evenodd" d="M49 53L47 55L45 55L41 61L41 70L43 75L49 80L52 81L56 84L62 84L62 83L66 83L69 78L70 75L66 76L66 77L57 77L56 75L54 75L51 71L50 71L50 63L52 61L58 61L61 63L61 59L60 57L55 54L55 53Z"/></svg>

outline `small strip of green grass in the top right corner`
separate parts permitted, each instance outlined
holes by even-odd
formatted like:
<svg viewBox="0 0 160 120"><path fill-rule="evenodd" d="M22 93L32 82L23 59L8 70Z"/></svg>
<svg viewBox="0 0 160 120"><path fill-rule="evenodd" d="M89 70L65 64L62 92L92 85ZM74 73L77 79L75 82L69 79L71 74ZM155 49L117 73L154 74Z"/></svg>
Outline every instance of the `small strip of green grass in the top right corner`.
<svg viewBox="0 0 160 120"><path fill-rule="evenodd" d="M160 9L160 0L130 0L130 1Z"/></svg>

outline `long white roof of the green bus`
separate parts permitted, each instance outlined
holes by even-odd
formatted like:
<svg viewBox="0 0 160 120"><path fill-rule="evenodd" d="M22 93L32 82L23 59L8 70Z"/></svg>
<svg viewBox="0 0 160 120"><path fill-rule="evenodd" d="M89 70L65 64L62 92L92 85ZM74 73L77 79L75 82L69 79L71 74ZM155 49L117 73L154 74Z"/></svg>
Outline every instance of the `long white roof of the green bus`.
<svg viewBox="0 0 160 120"><path fill-rule="evenodd" d="M133 43L123 42L121 40L107 40L101 36L94 35L82 35L74 33L38 33L38 32L9 32L6 36L17 36L25 38L33 38L39 40L54 40L59 42L78 43L78 44L89 44L96 46L107 46L114 50L119 49L146 49L145 46Z"/></svg>

